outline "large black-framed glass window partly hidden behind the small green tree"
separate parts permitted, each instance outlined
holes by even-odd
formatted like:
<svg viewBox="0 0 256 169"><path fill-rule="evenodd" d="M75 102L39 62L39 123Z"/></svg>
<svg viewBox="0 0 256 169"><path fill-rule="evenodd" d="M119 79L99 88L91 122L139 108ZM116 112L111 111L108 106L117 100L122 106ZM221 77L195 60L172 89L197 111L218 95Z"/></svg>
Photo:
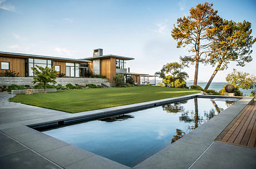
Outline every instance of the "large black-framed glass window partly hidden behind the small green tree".
<svg viewBox="0 0 256 169"><path fill-rule="evenodd" d="M46 59L28 59L28 76L35 76L34 72L31 68L35 67L36 65L41 66L45 68L46 66L48 68L51 68L52 66L52 60L46 60Z"/></svg>

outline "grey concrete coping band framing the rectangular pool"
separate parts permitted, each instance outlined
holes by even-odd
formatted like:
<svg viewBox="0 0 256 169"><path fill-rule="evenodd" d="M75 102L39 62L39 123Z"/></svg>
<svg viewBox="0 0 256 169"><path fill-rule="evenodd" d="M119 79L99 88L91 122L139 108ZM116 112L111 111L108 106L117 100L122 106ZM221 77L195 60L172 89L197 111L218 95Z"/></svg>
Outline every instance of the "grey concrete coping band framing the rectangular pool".
<svg viewBox="0 0 256 169"><path fill-rule="evenodd" d="M210 96L210 95L203 95L203 94L192 94L192 95L186 95L186 96L179 96L176 98L147 101L145 103L138 103L138 104L132 104L132 105L111 107L107 109L80 112L77 114L68 114L68 115L65 114L65 115L46 117L46 118L36 119L36 120L21 121L21 122L16 122L14 124L1 125L0 130L4 134L11 137L13 140L17 141L19 144L29 148L29 150L35 151L36 153L38 153L38 155L41 155L47 158L51 162L61 167L97 168L97 166L95 165L101 165L101 167L104 166L107 168L108 167L131 168L128 166L121 165L120 163L109 160L107 158L101 157L99 155L95 155L94 153L88 152L86 150L82 150L81 148L72 146L61 140L55 139L51 136L45 135L42 132L32 129L31 127L36 128L38 126L42 127L42 126L64 125L64 124L69 124L70 122L91 120L99 117L105 117L105 116L110 116L110 115L120 114L120 113L124 114L131 111L147 109L150 107L155 107L155 106L164 105L168 103L174 103L176 101L193 99L195 97L241 98L241 97L232 97L232 96L227 97L227 96ZM155 155L147 158L146 160L142 161L141 163L139 163L139 165L133 168L171 168L171 166L173 166L174 168L188 168L196 160L196 158L198 158L201 155L201 153L204 152L205 149L210 146L210 144L215 139L215 137L212 140L204 139L204 137L209 137L209 135L207 135L207 132L206 134L202 135L199 131L207 130L208 132L210 132L211 130L213 130L212 126L209 127L210 124L213 124L214 121L218 121L220 118L223 118L223 116L224 117L227 116L224 118L225 120L222 120L222 123L218 122L218 124L221 124L221 127L215 126L216 129L214 130L216 131L214 132L216 132L215 135L218 136L219 133L222 131L223 126L225 128L229 124L229 121L232 121L234 117L237 114L239 114L239 112L251 101L253 101L253 98L248 98L248 97L242 98L236 104L228 107L228 109L225 109L218 116L214 116L213 119L210 119L208 122L205 122L205 124L201 125L196 130L185 135L178 141L175 141L174 144L171 144L170 146L164 148L163 150L155 153ZM230 115L230 112L233 112L231 113L233 115ZM18 132L17 134L17 130L21 132ZM204 144L203 146L193 146L194 148L196 147L200 149L199 151L198 150L196 151L197 155L194 155L192 160L191 160L191 156L189 157L190 160L185 159L184 157L188 156L190 154L189 152L193 151L193 150L189 151L189 147L186 145L188 144L188 142L190 142L191 139L194 139L195 137L200 137L201 140L206 141L206 144ZM213 136L211 135L211 137ZM42 142L43 142L43 146L42 146ZM53 142L55 144L52 144ZM170 153L170 148L172 148L172 151L173 151L174 147L178 147L178 148L185 147L187 149L184 150L183 148L184 151L182 151L182 153L179 154L181 158L176 158L175 160L171 157L171 153ZM72 159L69 155L70 151L72 151L72 154L79 155L78 159L76 160ZM63 161L63 159L65 159L65 161ZM170 166L170 163L172 164L171 166ZM101 168L100 166L98 167Z"/></svg>

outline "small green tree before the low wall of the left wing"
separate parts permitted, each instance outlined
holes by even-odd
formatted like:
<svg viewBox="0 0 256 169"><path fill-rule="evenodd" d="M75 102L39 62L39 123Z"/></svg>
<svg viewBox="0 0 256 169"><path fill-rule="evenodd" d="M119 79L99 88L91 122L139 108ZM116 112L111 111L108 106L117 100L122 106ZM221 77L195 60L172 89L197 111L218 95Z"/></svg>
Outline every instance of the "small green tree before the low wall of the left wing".
<svg viewBox="0 0 256 169"><path fill-rule="evenodd" d="M33 84L38 83L39 85L43 85L45 88L46 93L46 84L53 83L56 84L57 82L55 79L57 78L57 71L53 70L52 68L48 68L47 66L45 68L36 65L37 68L33 67L32 70L34 71L35 77L33 78L34 81Z"/></svg>

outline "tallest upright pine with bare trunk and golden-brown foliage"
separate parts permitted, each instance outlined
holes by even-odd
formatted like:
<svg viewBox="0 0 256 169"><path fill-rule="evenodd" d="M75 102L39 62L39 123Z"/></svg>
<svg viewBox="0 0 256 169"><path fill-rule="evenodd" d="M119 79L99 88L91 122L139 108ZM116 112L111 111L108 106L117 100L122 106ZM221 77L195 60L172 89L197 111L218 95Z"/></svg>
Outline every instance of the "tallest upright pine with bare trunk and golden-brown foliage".
<svg viewBox="0 0 256 169"><path fill-rule="evenodd" d="M199 62L204 62L201 55L208 53L209 42L206 30L213 29L214 26L221 21L217 15L218 11L214 11L213 4L205 2L199 3L195 8L190 9L188 17L178 18L177 27L171 31L171 35L178 40L177 48L189 46L193 55L180 57L181 62L185 64L195 63L194 85L198 83L198 66Z"/></svg>

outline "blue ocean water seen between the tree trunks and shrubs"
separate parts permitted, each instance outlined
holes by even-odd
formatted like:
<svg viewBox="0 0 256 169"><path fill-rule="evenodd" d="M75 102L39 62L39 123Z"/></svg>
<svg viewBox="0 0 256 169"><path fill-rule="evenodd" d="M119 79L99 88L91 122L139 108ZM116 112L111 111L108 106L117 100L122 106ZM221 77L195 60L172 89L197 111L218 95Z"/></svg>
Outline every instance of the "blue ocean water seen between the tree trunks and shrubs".
<svg viewBox="0 0 256 169"><path fill-rule="evenodd" d="M201 86L201 88L205 88L207 82L198 82L198 85ZM191 85L193 85L193 82L189 81L186 83L186 85L189 87ZM226 82L211 82L210 86L209 86L209 89L213 89L213 90L216 90L216 91L220 91L221 89L223 89L223 86L224 85L227 85ZM240 91L243 92L243 95L246 95L246 96L249 96L250 95L250 92L255 90L256 88L254 89L240 89Z"/></svg>

